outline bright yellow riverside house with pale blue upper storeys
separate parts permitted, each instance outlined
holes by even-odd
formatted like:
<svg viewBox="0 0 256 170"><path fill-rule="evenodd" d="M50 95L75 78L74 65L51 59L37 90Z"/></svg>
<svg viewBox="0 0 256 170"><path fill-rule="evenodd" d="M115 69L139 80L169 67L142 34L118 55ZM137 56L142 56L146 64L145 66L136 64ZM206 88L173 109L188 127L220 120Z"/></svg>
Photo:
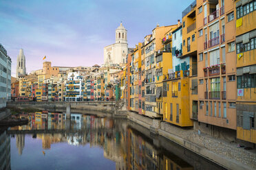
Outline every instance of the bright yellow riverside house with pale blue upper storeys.
<svg viewBox="0 0 256 170"><path fill-rule="evenodd" d="M164 71L163 80L163 120L179 126L191 126L189 117L189 63L190 57L182 58L182 25L171 32L172 36L172 66Z"/></svg>

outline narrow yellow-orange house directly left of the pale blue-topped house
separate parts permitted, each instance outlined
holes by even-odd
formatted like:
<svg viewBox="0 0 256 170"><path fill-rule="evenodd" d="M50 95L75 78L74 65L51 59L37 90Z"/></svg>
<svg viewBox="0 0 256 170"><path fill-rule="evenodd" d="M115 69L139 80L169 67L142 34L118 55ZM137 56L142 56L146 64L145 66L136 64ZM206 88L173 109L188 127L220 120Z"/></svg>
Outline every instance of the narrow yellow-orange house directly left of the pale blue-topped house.
<svg viewBox="0 0 256 170"><path fill-rule="evenodd" d="M164 86L163 90L163 82L167 80L167 73L169 69L172 69L172 55L171 55L171 47L172 47L172 37L171 32L180 25L180 21L178 25L171 27L168 32L164 34L162 37L162 49L156 52L156 112L158 114L163 114L163 111L167 108L167 101L163 102L164 97L167 97L167 88ZM166 82L164 82L166 85ZM167 99L167 98L165 98Z"/></svg>

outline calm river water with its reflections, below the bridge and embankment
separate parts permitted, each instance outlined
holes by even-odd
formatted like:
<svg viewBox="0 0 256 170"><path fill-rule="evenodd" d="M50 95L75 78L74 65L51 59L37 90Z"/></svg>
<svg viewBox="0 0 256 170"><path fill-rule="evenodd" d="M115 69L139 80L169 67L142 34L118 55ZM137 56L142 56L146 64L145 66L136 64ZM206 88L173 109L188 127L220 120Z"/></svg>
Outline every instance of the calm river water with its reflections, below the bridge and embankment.
<svg viewBox="0 0 256 170"><path fill-rule="evenodd" d="M20 114L0 129L0 169L223 169L162 136L107 114Z"/></svg>

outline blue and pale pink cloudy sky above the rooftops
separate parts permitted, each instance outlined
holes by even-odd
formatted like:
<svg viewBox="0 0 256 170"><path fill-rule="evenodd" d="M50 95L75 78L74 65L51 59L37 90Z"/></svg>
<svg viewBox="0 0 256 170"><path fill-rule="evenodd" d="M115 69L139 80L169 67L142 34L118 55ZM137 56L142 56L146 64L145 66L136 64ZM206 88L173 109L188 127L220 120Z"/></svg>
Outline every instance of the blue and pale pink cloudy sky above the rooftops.
<svg viewBox="0 0 256 170"><path fill-rule="evenodd" d="M193 0L1 0L0 43L16 73L19 49L27 72L52 66L103 64L103 49L127 29L129 47L142 42L157 24L173 25Z"/></svg>

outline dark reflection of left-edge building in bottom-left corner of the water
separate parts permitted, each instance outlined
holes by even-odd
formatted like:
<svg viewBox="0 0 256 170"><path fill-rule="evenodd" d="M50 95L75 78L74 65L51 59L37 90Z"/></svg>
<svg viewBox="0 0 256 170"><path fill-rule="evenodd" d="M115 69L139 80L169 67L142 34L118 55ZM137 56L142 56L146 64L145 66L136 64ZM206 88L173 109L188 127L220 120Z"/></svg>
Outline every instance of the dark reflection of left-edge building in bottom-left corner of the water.
<svg viewBox="0 0 256 170"><path fill-rule="evenodd" d="M0 169L10 169L10 136L6 130L0 130Z"/></svg>

